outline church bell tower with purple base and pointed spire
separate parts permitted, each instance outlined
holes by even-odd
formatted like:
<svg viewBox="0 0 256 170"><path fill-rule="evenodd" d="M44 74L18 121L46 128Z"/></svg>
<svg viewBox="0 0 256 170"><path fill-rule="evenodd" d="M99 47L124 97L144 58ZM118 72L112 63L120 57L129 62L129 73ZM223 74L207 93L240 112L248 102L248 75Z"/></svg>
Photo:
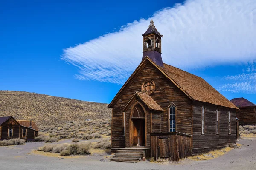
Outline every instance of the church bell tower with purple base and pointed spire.
<svg viewBox="0 0 256 170"><path fill-rule="evenodd" d="M155 64L163 67L163 60L161 56L161 35L154 26L153 20L150 21L148 30L142 34L143 36L143 57L142 60L148 56Z"/></svg>

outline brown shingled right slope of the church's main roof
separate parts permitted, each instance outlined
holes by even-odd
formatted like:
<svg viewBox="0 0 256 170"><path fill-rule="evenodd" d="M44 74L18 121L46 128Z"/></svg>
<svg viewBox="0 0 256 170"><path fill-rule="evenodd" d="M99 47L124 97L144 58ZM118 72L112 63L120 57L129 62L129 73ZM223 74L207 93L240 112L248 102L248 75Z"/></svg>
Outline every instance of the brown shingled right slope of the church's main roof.
<svg viewBox="0 0 256 170"><path fill-rule="evenodd" d="M177 83L177 85L179 85L180 88L182 88L193 100L238 109L201 77L165 63L163 66L164 67L159 68Z"/></svg>

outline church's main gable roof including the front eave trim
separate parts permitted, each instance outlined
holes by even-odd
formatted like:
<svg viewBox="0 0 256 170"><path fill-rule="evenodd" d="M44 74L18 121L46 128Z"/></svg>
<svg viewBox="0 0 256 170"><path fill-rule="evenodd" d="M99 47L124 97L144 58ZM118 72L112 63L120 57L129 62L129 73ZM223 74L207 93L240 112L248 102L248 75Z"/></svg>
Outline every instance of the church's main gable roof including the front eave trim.
<svg viewBox="0 0 256 170"><path fill-rule="evenodd" d="M227 98L225 98L222 94L220 94L215 88L209 85L204 79L201 77L195 76L194 74L190 74L186 71L183 71L179 68L175 68L168 64L163 64L164 67L160 67L154 62L151 61L150 58L145 57L145 59L140 63L140 65L136 68L134 73L129 77L127 82L122 86L119 92L116 94L114 99L108 105L108 107L113 107L113 103L116 102L116 99L120 96L123 89L128 85L128 83L135 77L145 66L145 62L150 62L154 65L159 71L161 71L171 82L173 82L181 91L183 91L191 100L196 100L200 102L207 102L214 105L220 105L227 108L237 108L232 102L230 102Z"/></svg>

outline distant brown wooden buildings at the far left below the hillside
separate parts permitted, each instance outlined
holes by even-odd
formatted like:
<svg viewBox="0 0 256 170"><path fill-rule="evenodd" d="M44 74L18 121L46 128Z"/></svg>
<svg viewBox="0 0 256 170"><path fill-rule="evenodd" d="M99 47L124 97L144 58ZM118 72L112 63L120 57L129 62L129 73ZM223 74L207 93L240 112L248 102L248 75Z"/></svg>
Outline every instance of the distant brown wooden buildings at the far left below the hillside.
<svg viewBox="0 0 256 170"><path fill-rule="evenodd" d="M36 125L35 128L37 128ZM35 141L37 134L38 128L35 130L31 126L26 127L12 116L0 117L0 140L20 138L25 141Z"/></svg>

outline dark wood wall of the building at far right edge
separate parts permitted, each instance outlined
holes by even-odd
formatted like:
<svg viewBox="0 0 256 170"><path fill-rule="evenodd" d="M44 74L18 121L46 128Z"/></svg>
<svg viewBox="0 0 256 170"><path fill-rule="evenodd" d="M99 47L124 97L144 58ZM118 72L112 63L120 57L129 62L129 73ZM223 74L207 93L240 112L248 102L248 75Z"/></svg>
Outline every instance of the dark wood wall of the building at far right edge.
<svg viewBox="0 0 256 170"><path fill-rule="evenodd" d="M256 107L240 107L236 111L239 125L256 125Z"/></svg>

